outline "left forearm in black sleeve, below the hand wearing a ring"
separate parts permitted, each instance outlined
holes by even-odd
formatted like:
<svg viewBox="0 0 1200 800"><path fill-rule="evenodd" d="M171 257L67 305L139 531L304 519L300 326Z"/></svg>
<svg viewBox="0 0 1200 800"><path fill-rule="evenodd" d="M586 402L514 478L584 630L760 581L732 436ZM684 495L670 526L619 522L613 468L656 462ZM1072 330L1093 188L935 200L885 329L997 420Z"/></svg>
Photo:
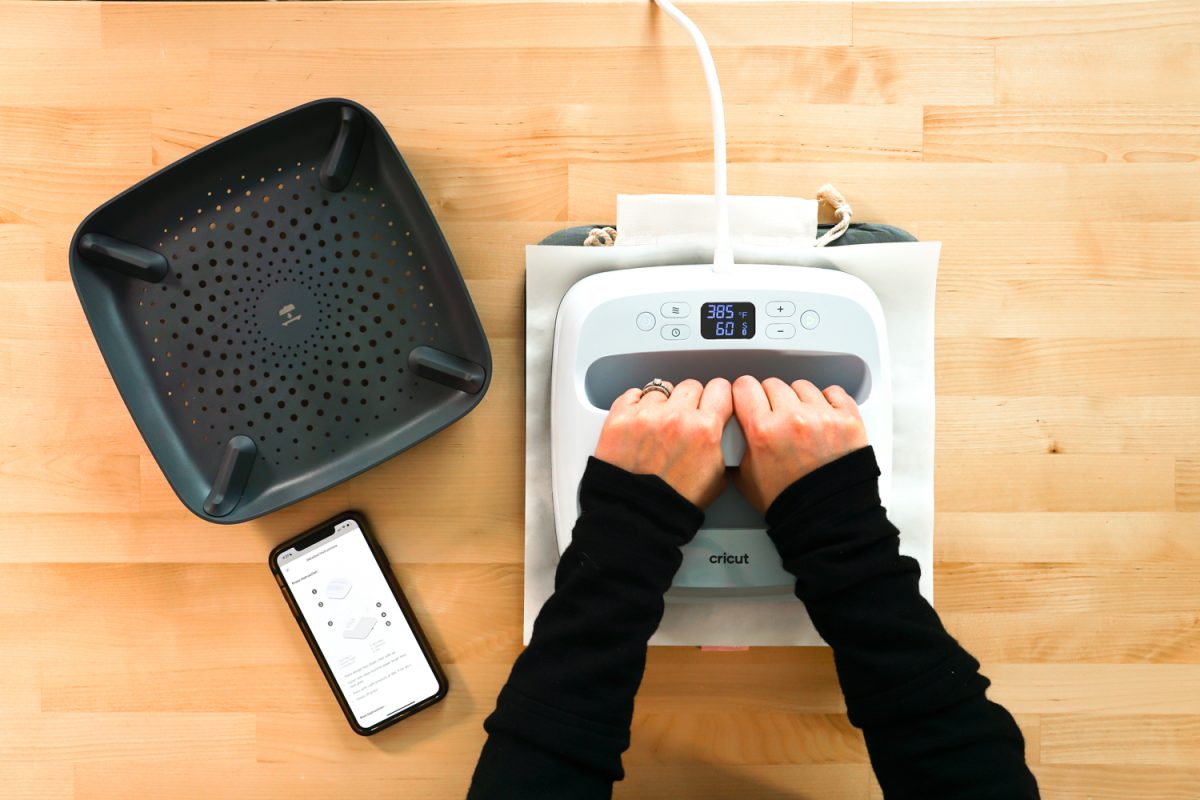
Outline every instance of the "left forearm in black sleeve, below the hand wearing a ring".
<svg viewBox="0 0 1200 800"><path fill-rule="evenodd" d="M554 594L484 722L470 800L608 798L624 777L646 643L662 619L679 547L704 517L661 479L595 458L580 505Z"/></svg>

